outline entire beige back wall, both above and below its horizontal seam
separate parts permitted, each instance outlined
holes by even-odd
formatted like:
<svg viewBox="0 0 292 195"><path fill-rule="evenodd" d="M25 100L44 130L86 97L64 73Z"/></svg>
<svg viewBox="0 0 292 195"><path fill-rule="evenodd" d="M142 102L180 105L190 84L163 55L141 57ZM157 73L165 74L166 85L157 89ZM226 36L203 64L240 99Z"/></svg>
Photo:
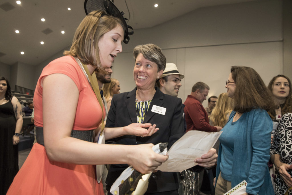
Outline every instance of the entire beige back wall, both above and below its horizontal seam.
<svg viewBox="0 0 292 195"><path fill-rule="evenodd" d="M112 77L119 80L121 92L132 90L133 48L151 42L162 48L167 63L175 63L185 74L178 95L183 102L198 81L209 85L209 96L218 96L226 92L232 65L254 68L266 84L283 73L282 40L282 1L200 8L159 26L134 30L115 60Z"/></svg>

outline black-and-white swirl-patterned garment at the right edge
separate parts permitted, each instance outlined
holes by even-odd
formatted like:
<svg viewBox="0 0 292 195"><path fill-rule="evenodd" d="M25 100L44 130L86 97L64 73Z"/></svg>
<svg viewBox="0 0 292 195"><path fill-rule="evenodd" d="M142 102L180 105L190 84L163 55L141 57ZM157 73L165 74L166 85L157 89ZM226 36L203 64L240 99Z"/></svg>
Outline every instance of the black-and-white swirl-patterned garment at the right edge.
<svg viewBox="0 0 292 195"><path fill-rule="evenodd" d="M283 163L292 164L292 113L284 114L277 125L270 150L270 155L273 154L279 154ZM292 170L288 173L292 176ZM284 195L288 187L280 174L277 174L275 183L275 194ZM292 195L292 190L289 190L289 195Z"/></svg>

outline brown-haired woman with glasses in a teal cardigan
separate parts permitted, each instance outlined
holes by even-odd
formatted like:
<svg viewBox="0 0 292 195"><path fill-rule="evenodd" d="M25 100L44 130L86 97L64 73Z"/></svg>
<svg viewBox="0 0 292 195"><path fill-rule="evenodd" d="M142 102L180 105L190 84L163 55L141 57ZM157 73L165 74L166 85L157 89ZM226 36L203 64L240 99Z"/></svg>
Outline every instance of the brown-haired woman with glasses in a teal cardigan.
<svg viewBox="0 0 292 195"><path fill-rule="evenodd" d="M244 66L232 66L225 87L234 99L234 110L219 138L215 195L243 180L247 186L242 195L274 195L267 166L273 125L266 110L274 105L271 93L258 73Z"/></svg>

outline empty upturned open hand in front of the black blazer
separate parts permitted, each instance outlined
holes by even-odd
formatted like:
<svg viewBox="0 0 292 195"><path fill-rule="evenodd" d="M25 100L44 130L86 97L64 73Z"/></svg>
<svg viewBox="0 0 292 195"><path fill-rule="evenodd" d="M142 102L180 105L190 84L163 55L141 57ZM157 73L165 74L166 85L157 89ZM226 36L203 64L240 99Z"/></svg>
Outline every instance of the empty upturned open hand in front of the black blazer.
<svg viewBox="0 0 292 195"><path fill-rule="evenodd" d="M156 125L151 125L150 123L132 123L126 126L125 130L128 135L146 137L153 135L159 128L156 128Z"/></svg>

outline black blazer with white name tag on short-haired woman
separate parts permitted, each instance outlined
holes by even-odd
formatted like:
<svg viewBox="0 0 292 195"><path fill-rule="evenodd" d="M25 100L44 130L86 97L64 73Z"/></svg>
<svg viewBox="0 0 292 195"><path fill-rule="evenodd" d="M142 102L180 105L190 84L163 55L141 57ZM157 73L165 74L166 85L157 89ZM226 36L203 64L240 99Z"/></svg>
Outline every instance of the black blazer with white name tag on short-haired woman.
<svg viewBox="0 0 292 195"><path fill-rule="evenodd" d="M150 107L147 111L143 123L156 124L159 130L150 137L137 137L133 135L125 135L109 140L112 144L158 144L160 142L168 142L168 149L184 134L183 121L183 104L182 100L177 97L163 94L157 87L153 96ZM131 123L137 122L137 114L135 108L137 87L131 92L115 94L112 99L112 105L109 109L105 127L124 127ZM166 108L165 115L154 113L151 111L152 106L160 106ZM107 142L107 143L109 143ZM128 167L127 164L111 165L107 175L107 191L121 173ZM164 192L178 189L178 179L176 172L152 173L147 193Z"/></svg>

